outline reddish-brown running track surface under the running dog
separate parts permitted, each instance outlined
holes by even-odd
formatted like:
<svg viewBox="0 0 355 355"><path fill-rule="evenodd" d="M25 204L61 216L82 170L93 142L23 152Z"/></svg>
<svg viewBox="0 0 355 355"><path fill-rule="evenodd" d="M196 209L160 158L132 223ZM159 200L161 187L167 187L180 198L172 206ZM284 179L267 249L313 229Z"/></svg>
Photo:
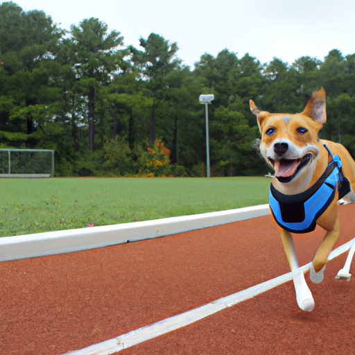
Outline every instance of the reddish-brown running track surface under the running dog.
<svg viewBox="0 0 355 355"><path fill-rule="evenodd" d="M355 237L355 205L340 207L338 245ZM296 236L300 264L324 232ZM355 354L355 276L346 254L309 283L291 282L117 354ZM114 338L289 271L269 216L159 239L0 263L0 354L55 355ZM350 272L355 272L354 267Z"/></svg>

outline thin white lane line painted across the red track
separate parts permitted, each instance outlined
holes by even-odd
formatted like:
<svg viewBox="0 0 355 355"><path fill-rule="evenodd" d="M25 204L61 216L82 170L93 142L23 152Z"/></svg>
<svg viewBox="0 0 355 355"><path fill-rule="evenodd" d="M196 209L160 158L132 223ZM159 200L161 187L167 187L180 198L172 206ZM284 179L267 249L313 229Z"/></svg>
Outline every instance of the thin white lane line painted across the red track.
<svg viewBox="0 0 355 355"><path fill-rule="evenodd" d="M331 254L329 254L328 260L330 261L349 250L353 243L355 243L355 238L343 245L340 245L340 247L336 248L336 250L333 250ZM306 265L296 270L296 272L299 270L306 272L310 268L311 263L307 263ZM91 345L74 352L69 352L66 355L109 355L113 354L114 352L119 352L128 347L132 347L133 345L143 343L146 340L150 340L156 338L157 336L166 334L169 331L173 331L185 327L186 325L189 325L193 322L197 322L198 320L206 318L209 315L217 313L218 311L222 311L227 307L234 306L234 304L248 300L249 298L266 292L271 288L275 288L281 284L284 284L285 282L291 281L291 279L292 272L288 272L282 276L275 277L275 279L270 279L243 291L239 291L227 297L223 297L219 300L205 304L204 306L191 309L191 311L174 315L173 317L160 320L159 322L147 325L146 327L141 327L134 331L130 331L129 333L117 336L116 338L105 340L102 343Z"/></svg>

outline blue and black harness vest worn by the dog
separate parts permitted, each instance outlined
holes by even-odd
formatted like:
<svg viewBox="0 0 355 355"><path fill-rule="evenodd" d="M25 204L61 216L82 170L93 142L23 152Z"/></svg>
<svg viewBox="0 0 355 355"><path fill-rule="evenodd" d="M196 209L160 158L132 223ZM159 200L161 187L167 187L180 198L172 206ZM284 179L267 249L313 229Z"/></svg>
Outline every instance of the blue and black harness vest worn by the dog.
<svg viewBox="0 0 355 355"><path fill-rule="evenodd" d="M269 205L276 223L293 233L308 233L315 230L320 216L334 200L339 191L339 200L350 191L350 183L343 175L342 162L338 155L332 155L331 162L313 186L297 195L284 195L270 184Z"/></svg>

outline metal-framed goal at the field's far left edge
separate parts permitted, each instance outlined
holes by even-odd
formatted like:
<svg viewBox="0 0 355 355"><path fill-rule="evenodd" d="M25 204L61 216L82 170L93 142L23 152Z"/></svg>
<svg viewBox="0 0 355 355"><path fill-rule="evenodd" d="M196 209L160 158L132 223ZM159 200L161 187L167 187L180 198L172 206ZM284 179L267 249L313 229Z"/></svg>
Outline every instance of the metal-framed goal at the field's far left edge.
<svg viewBox="0 0 355 355"><path fill-rule="evenodd" d="M0 148L0 178L53 178L54 150Z"/></svg>

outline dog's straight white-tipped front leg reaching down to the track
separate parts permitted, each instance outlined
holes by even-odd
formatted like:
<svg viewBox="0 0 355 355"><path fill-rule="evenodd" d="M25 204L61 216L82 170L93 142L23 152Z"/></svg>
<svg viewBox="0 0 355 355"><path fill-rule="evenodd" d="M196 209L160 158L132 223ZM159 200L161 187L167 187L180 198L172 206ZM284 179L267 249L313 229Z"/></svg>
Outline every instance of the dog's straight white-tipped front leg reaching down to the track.
<svg viewBox="0 0 355 355"><path fill-rule="evenodd" d="M295 285L297 304L302 311L310 312L314 308L314 300L304 279L304 273L299 270L297 255L295 251L295 245L290 232L286 230L281 231L282 243L284 243L284 249L290 268L292 271L293 284Z"/></svg>

